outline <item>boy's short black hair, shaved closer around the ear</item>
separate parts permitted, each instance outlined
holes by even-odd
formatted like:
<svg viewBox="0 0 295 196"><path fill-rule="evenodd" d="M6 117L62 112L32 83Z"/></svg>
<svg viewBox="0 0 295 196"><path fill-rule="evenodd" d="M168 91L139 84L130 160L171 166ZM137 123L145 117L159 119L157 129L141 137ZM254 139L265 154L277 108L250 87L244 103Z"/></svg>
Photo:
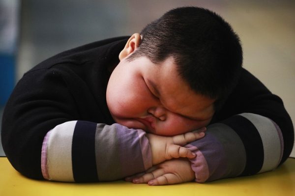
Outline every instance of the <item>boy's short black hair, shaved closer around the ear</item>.
<svg viewBox="0 0 295 196"><path fill-rule="evenodd" d="M215 12L200 7L172 9L148 24L141 36L128 60L146 56L159 63L172 56L191 89L216 99L215 109L236 86L243 58L240 39Z"/></svg>

